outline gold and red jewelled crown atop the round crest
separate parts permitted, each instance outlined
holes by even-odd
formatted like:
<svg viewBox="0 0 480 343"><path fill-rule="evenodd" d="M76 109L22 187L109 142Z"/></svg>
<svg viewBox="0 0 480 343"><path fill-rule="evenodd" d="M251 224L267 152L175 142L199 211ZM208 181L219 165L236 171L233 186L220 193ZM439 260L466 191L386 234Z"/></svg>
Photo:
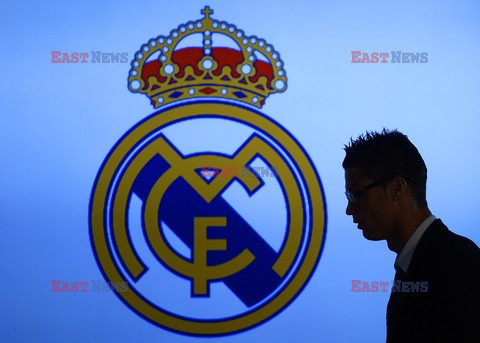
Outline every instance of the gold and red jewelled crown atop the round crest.
<svg viewBox="0 0 480 343"><path fill-rule="evenodd" d="M175 101L216 97L262 107L272 93L285 91L287 78L280 54L265 40L211 17L189 21L142 45L135 53L128 88L145 93L154 107ZM186 37L200 33L201 47L177 48ZM227 36L239 49L214 46L213 38ZM223 37L219 40L223 40Z"/></svg>

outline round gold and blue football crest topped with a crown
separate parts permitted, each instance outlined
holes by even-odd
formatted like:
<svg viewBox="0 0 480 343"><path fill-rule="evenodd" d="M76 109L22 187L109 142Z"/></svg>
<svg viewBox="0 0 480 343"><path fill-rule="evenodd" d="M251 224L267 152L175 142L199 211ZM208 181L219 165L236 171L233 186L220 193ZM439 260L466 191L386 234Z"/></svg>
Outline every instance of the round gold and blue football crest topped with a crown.
<svg viewBox="0 0 480 343"><path fill-rule="evenodd" d="M90 235L107 281L128 283L116 291L128 307L168 330L213 336L259 325L295 299L326 219L307 153L256 109L286 90L279 53L209 7L202 14L135 54L128 87L159 110L106 157Z"/></svg>

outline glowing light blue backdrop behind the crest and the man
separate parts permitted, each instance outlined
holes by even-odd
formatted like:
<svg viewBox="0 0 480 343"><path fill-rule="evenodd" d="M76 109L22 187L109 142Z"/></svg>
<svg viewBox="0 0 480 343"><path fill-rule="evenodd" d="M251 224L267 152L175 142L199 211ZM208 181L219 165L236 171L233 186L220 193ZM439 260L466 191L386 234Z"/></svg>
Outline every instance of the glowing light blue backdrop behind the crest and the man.
<svg viewBox="0 0 480 343"><path fill-rule="evenodd" d="M52 293L51 280L102 279L88 235L96 173L115 142L153 112L126 87L129 64L52 64L51 51L128 52L200 18L199 1L0 5L0 340L194 342L146 322L113 293ZM398 128L429 169L432 212L480 244L477 1L216 1L214 17L265 38L289 80L262 111L302 143L321 176L328 233L302 294L273 320L219 342L376 342L395 254L345 215L343 144ZM351 51L428 52L424 64L352 64ZM195 139L192 137L192 144ZM460 287L460 285L459 285Z"/></svg>

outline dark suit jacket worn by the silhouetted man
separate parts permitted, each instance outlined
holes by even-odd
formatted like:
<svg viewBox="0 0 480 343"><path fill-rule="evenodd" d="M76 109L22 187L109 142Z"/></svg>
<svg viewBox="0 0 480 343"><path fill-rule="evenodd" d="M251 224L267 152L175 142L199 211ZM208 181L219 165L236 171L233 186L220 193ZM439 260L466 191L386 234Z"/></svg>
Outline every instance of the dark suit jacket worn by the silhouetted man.
<svg viewBox="0 0 480 343"><path fill-rule="evenodd" d="M471 240L435 220L395 280L428 282L428 290L392 289L387 342L480 342L480 249Z"/></svg>

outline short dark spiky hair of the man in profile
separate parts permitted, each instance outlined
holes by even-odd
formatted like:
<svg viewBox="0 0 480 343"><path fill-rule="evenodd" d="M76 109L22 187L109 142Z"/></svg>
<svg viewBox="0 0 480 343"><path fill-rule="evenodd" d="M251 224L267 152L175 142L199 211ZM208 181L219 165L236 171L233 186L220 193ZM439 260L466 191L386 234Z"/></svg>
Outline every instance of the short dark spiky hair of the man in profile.
<svg viewBox="0 0 480 343"><path fill-rule="evenodd" d="M401 176L410 185L415 200L427 206L427 166L415 145L397 130L365 132L344 147L344 169L358 167L376 181Z"/></svg>

